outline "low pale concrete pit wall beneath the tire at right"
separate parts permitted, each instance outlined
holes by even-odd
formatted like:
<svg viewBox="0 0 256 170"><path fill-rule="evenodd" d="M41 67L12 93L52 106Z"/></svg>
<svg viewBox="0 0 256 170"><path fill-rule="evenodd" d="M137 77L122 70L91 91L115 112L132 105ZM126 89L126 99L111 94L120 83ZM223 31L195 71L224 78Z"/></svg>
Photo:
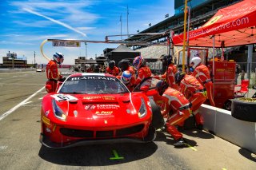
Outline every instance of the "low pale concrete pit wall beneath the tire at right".
<svg viewBox="0 0 256 170"><path fill-rule="evenodd" d="M231 112L202 105L199 113L204 118L204 129L228 140L241 148L256 153L256 123L241 121L231 116Z"/></svg>

